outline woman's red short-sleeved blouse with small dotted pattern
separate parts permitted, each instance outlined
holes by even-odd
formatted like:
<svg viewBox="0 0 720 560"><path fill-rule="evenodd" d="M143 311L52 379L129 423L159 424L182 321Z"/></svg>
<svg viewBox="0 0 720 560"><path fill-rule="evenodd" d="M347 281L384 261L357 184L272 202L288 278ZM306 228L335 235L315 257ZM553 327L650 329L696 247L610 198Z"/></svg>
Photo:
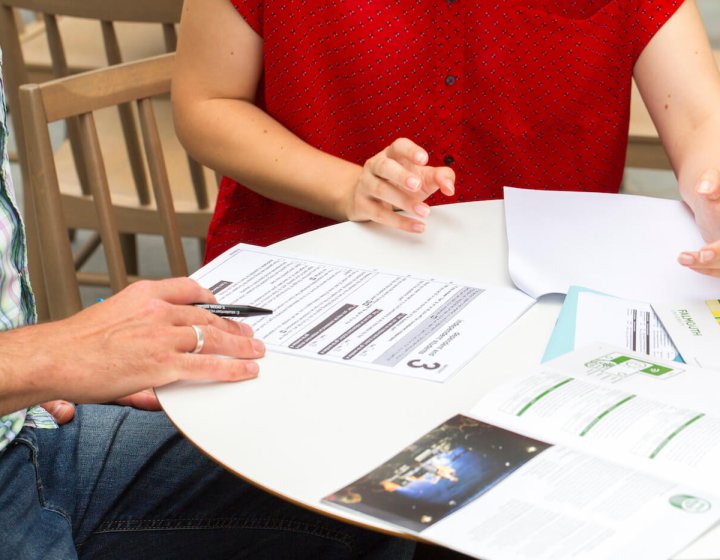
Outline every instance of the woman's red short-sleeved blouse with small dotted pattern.
<svg viewBox="0 0 720 560"><path fill-rule="evenodd" d="M632 69L682 0L231 0L263 38L259 104L362 164L398 137L455 169L456 196L502 187L617 192ZM332 223L224 179L206 258Z"/></svg>

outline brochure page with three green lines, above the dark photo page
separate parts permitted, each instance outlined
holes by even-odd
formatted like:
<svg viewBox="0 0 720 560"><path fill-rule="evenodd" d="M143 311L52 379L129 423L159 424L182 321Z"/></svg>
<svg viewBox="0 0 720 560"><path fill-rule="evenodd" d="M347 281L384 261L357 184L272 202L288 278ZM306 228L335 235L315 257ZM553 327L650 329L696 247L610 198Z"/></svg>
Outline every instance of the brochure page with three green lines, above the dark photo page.
<svg viewBox="0 0 720 560"><path fill-rule="evenodd" d="M470 415L720 494L720 377L608 346L539 366Z"/></svg>

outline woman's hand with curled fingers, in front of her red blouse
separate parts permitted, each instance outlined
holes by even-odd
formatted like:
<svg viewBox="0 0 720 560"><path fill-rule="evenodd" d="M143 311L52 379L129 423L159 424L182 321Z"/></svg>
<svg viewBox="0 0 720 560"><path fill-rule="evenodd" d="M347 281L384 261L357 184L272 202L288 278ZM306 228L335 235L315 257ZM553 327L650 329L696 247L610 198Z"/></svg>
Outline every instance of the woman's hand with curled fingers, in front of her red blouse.
<svg viewBox="0 0 720 560"><path fill-rule="evenodd" d="M455 194L455 172L449 167L431 167L427 163L427 152L407 138L398 138L371 157L353 189L348 219L370 220L422 233L425 230L422 218L430 213L425 199L437 190L446 196ZM394 209L417 218L403 216Z"/></svg>

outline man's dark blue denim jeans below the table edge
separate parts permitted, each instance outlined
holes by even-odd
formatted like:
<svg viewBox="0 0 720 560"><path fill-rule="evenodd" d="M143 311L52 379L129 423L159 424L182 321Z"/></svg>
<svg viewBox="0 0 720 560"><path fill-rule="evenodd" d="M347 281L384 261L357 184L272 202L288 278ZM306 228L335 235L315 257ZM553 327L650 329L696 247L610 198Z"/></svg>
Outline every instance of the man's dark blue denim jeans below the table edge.
<svg viewBox="0 0 720 560"><path fill-rule="evenodd" d="M0 557L412 558L413 543L306 511L198 452L161 412L79 406L0 454Z"/></svg>

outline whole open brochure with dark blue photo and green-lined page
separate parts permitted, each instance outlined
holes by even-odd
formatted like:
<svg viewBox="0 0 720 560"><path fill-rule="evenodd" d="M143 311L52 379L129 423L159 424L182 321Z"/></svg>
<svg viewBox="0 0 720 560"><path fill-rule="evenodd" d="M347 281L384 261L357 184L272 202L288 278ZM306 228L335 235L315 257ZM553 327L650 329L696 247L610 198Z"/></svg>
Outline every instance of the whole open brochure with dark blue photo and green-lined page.
<svg viewBox="0 0 720 560"><path fill-rule="evenodd" d="M586 347L325 501L485 560L670 558L720 519L718 394L716 373Z"/></svg>

